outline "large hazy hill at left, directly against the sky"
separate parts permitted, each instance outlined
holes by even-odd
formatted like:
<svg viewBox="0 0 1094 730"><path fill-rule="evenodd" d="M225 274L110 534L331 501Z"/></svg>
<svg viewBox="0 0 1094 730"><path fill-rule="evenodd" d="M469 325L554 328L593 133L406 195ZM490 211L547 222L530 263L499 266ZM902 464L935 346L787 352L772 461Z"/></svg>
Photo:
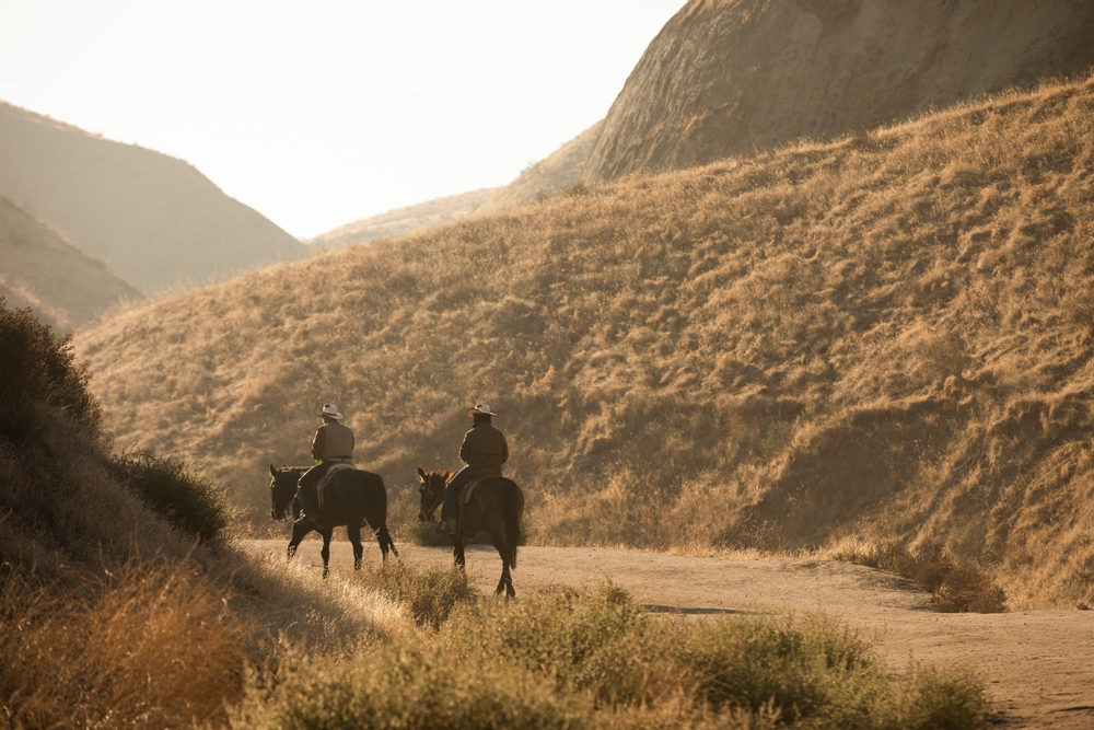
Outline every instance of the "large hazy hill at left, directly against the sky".
<svg viewBox="0 0 1094 730"><path fill-rule="evenodd" d="M197 170L0 102L0 196L146 294L305 248Z"/></svg>

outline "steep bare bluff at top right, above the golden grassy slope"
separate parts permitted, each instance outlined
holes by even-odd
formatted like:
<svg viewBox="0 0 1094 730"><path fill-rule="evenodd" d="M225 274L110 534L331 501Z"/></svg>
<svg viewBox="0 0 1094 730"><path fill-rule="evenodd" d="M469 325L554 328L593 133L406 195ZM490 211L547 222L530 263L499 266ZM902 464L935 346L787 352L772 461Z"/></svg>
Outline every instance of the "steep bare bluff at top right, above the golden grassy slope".
<svg viewBox="0 0 1094 730"><path fill-rule="evenodd" d="M583 182L905 119L1094 66L1074 0L690 0L608 111Z"/></svg>

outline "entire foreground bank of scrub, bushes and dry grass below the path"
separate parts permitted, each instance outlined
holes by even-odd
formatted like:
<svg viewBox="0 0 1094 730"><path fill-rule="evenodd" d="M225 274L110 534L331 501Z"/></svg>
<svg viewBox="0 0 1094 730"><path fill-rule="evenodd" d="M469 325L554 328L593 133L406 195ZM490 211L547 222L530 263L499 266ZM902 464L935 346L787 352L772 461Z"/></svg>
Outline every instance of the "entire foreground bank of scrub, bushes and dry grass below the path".
<svg viewBox="0 0 1094 730"><path fill-rule="evenodd" d="M185 464L109 453L66 339L0 322L31 394L0 434L2 727L987 727L969 674L892 677L822 616L664 622L610 584L508 604L455 569L248 553Z"/></svg>

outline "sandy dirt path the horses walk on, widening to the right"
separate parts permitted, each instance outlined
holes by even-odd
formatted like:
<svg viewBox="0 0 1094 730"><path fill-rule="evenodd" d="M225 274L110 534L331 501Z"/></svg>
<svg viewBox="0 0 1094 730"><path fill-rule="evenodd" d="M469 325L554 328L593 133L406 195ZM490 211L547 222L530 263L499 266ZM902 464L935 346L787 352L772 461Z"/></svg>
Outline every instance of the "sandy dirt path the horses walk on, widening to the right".
<svg viewBox="0 0 1094 730"><path fill-rule="evenodd" d="M260 541L283 552L288 541ZM318 540L296 559L322 567ZM331 543L330 570L352 569L346 542ZM450 565L451 548L399 547L401 559ZM365 559L380 559L374 543ZM501 560L489 546L467 548L467 575L492 593ZM581 586L609 578L651 611L694 615L756 610L822 610L874 639L894 670L911 664L965 664L992 698L993 722L1005 728L1094 728L1094 612L1026 611L1009 614L939 614L930 595L904 578L848 565L795 558L733 559L632 551L522 547L513 584L517 599L551 584Z"/></svg>

